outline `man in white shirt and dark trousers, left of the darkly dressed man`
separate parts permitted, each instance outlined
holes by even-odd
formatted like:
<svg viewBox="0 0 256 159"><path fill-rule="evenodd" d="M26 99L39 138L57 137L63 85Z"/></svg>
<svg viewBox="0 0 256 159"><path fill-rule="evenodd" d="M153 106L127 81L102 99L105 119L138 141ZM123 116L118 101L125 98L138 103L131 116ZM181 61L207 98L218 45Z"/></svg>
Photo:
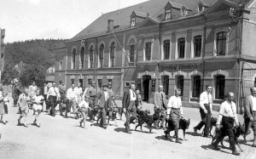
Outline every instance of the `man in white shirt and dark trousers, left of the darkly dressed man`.
<svg viewBox="0 0 256 159"><path fill-rule="evenodd" d="M57 100L61 99L61 94L59 88L56 87L56 82L52 82L51 88L49 88L47 99L49 99L49 106L51 107L49 115L55 116L55 107L57 105Z"/></svg>

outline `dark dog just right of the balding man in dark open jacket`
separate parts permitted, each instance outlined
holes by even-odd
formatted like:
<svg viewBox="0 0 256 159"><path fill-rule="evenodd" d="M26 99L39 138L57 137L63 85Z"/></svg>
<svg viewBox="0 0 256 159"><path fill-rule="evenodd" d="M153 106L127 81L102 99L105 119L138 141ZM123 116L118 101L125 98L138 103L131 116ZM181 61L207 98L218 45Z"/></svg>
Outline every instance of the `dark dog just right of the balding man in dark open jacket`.
<svg viewBox="0 0 256 159"><path fill-rule="evenodd" d="M149 128L149 133L151 133L152 131L152 124L154 123L154 117L149 115L150 111L146 110L146 111L137 111L137 126L135 128L135 130L137 129L137 127L141 127L141 131L143 131L143 123L147 123L148 128Z"/></svg>

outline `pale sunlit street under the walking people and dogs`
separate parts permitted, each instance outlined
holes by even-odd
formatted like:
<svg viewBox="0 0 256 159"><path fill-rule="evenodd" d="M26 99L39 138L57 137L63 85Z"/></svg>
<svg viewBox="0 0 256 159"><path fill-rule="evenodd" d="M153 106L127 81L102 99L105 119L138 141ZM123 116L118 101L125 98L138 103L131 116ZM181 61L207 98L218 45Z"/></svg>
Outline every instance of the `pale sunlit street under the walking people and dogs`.
<svg viewBox="0 0 256 159"><path fill-rule="evenodd" d="M143 109L152 108L153 105L143 105ZM144 127L143 132L125 133L124 121L118 121L118 127L111 125L107 129L87 122L88 129L83 129L78 120L43 113L41 128L20 127L16 126L16 111L17 108L10 106L6 116L9 122L7 125L0 123L0 158L256 158L256 149L250 146L252 134L248 137L250 142L241 145L244 149L241 156L233 156L227 149L208 149L211 139L192 133L200 120L199 111L194 108L183 109L184 117L190 118L191 123L186 134L188 140L183 140L182 145L166 140L163 130L153 129L153 133L148 133L148 128ZM213 116L217 115L217 112L213 113ZM30 111L29 123L33 117ZM242 122L241 116L240 120ZM179 135L181 137L182 132Z"/></svg>

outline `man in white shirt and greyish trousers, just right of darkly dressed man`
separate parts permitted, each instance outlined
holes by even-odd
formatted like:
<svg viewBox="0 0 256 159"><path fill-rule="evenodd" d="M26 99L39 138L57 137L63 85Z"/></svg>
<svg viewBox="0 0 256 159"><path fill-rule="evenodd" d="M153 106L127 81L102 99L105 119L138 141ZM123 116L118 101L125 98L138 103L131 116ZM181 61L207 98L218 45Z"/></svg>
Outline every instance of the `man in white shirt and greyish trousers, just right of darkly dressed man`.
<svg viewBox="0 0 256 159"><path fill-rule="evenodd" d="M67 118L67 112L69 112L71 108L73 109L73 112L76 112L76 103L78 103L78 94L73 83L71 84L71 88L67 89L67 108L64 117Z"/></svg>

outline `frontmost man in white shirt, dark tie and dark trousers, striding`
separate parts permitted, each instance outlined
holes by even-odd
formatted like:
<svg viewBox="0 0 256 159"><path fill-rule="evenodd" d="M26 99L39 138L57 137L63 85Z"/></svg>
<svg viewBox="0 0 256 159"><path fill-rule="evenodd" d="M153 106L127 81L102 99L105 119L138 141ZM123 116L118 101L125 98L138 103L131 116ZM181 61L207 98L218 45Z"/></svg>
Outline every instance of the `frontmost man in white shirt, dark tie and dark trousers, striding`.
<svg viewBox="0 0 256 159"><path fill-rule="evenodd" d="M235 135L233 131L234 122L236 126L239 125L237 114L236 114L236 104L233 102L234 93L230 92L227 95L227 100L220 105L218 121L216 123L217 133L219 133L218 138L212 143L213 150L218 149L218 143L224 139L225 136L229 136L230 148L232 154L239 156L240 153L236 151L235 145ZM220 122L222 122L223 128L220 128Z"/></svg>

